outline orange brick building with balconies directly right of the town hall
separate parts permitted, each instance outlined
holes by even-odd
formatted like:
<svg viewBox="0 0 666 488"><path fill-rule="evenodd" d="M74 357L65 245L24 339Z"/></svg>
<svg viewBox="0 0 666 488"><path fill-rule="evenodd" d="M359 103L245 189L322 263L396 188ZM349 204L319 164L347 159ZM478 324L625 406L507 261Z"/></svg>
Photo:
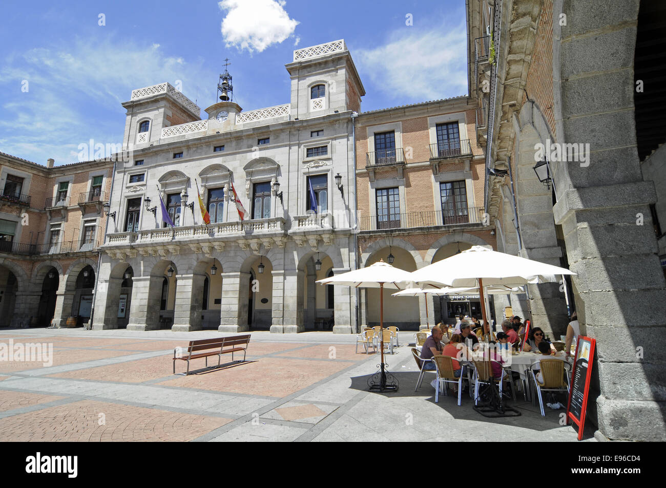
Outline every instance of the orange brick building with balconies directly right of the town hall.
<svg viewBox="0 0 666 488"><path fill-rule="evenodd" d="M414 271L474 245L496 248L484 218L484 149L473 97L362 113L356 118L359 266L380 259ZM391 297L390 324L455 323L481 315L478 296ZM496 306L501 307L500 300ZM427 313L426 313L427 312ZM501 317L501 311L495 315ZM379 323L379 290L360 290L360 323Z"/></svg>

